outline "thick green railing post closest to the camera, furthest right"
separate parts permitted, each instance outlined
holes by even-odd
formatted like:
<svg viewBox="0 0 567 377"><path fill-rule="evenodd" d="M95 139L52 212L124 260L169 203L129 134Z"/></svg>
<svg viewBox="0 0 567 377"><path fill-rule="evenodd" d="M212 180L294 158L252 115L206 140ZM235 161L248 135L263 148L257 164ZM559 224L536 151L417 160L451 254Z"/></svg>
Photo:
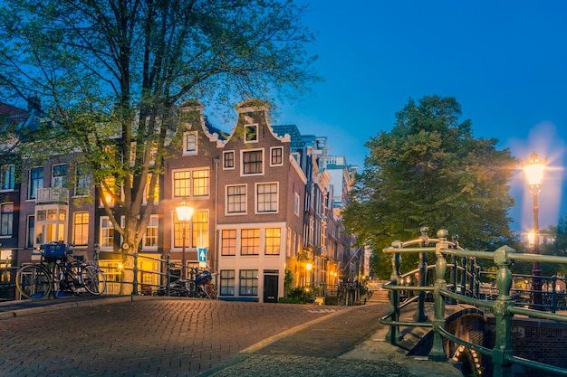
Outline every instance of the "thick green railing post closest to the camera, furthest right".
<svg viewBox="0 0 567 377"><path fill-rule="evenodd" d="M508 257L510 253L514 253L514 249L508 246L495 250L495 264L498 267L496 286L499 292L494 306L496 334L492 363L495 366L495 377L512 377L514 375L512 365L508 360L514 354L512 347L512 317L514 314L509 312L509 308L514 306L514 301L510 297L510 287L512 287L511 261Z"/></svg>

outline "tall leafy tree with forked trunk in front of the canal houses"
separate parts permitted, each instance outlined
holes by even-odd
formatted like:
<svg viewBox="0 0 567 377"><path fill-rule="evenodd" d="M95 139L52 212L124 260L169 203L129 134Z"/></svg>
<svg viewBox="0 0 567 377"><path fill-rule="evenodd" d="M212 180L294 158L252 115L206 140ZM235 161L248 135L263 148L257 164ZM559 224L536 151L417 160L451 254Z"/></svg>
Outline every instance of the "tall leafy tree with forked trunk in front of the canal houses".
<svg viewBox="0 0 567 377"><path fill-rule="evenodd" d="M180 102L289 98L318 80L304 10L292 0L5 0L0 90L37 93L53 125L47 150L82 150L135 250L153 206L142 211L145 186L153 197L166 146L184 131Z"/></svg>

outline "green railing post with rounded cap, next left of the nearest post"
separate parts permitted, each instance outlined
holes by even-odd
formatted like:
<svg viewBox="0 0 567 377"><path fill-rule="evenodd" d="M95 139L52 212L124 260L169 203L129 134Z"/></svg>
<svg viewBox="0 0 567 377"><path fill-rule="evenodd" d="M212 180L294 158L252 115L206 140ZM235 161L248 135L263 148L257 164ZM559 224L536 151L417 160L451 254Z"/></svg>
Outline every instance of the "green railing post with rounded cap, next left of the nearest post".
<svg viewBox="0 0 567 377"><path fill-rule="evenodd" d="M448 231L444 229L437 231L437 238L439 241L435 246L435 255L437 257L435 264L436 279L433 287L435 297L435 318L433 319L433 346L429 352L429 359L435 362L445 362L447 360L447 354L443 347L443 337L437 332L438 327L445 328L445 298L441 296L441 289L447 288L447 281L445 280L447 260L441 252L441 249L449 246L449 243L447 242L447 234Z"/></svg>

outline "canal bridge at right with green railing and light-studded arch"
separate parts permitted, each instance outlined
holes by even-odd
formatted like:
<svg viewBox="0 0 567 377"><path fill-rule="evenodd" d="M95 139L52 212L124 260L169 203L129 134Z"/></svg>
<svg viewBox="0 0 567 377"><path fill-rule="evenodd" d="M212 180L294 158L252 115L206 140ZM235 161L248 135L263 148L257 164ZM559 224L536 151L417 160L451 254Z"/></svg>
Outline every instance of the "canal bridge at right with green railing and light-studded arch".
<svg viewBox="0 0 567 377"><path fill-rule="evenodd" d="M467 376L567 375L564 280L538 277L549 283L545 292L517 287L510 269L533 261L566 264L567 258L517 253L507 246L464 250L456 239L447 239L447 231L437 231L436 239L427 233L423 229L418 239L395 241L383 250L392 260L390 279L380 285L388 301L373 306L381 310L374 322L387 329L383 341L425 360L460 363ZM418 255L418 269L402 272L400 261L408 254ZM494 284L481 284L478 259L495 264ZM133 269L134 280L124 284L137 297L137 263Z"/></svg>

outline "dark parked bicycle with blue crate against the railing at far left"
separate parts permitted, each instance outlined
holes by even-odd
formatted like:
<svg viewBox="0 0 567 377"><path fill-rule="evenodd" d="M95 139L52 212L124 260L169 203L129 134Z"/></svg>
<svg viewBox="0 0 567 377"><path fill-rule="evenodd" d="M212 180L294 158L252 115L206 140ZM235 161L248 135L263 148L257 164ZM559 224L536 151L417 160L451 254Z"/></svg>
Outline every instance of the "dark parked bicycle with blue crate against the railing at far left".
<svg viewBox="0 0 567 377"><path fill-rule="evenodd" d="M106 280L93 263L83 255L73 255L71 246L47 243L40 246L39 264L18 270L15 285L25 298L69 295L100 296L106 290Z"/></svg>

